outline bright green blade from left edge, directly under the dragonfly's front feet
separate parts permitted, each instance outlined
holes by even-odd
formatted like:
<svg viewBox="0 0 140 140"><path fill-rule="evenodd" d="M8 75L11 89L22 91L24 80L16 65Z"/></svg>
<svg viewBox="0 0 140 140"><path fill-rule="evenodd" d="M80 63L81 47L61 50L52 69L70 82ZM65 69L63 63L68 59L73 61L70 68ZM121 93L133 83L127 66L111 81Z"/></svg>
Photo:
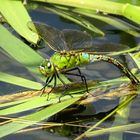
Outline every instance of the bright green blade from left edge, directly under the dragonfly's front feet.
<svg viewBox="0 0 140 140"><path fill-rule="evenodd" d="M47 95L45 97L40 97L40 96L33 97L30 100L27 100L27 101L25 101L21 104L18 104L18 105L12 106L12 107L8 107L6 109L1 109L0 110L0 115L15 114L15 113L39 108L39 107L42 107L42 106L56 104L56 103L59 102L59 97L60 96L61 96L61 94L55 95L55 94L51 93L49 95L49 97L51 99L48 100L48 101L47 101ZM77 98L77 97L81 97L81 96L83 96L83 94L76 94L76 95L73 95L73 98ZM64 96L64 97L61 98L61 102L64 101L64 100L70 100L70 99L71 99L71 96Z"/></svg>

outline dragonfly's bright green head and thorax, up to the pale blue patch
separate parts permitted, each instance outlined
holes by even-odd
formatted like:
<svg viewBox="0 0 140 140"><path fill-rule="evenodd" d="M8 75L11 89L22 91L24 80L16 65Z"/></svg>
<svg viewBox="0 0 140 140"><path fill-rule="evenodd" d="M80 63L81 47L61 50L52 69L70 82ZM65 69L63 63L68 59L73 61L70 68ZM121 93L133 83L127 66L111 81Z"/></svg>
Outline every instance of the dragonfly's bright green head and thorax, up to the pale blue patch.
<svg viewBox="0 0 140 140"><path fill-rule="evenodd" d="M55 70L61 73L66 69L85 65L89 62L90 56L87 53L76 53L75 51L56 52L50 60L45 59L39 69L44 76L50 76L55 73Z"/></svg>

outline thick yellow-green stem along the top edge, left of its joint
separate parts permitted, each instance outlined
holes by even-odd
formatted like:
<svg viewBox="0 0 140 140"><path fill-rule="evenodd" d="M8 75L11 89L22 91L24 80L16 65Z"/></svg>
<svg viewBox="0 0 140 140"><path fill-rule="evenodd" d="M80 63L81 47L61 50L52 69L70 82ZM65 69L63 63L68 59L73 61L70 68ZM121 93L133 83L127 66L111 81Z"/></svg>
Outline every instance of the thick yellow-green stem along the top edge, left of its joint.
<svg viewBox="0 0 140 140"><path fill-rule="evenodd" d="M32 0L38 2L46 2L51 4L59 4L84 9L95 9L112 14L120 14L124 4L115 3L107 0Z"/></svg>

